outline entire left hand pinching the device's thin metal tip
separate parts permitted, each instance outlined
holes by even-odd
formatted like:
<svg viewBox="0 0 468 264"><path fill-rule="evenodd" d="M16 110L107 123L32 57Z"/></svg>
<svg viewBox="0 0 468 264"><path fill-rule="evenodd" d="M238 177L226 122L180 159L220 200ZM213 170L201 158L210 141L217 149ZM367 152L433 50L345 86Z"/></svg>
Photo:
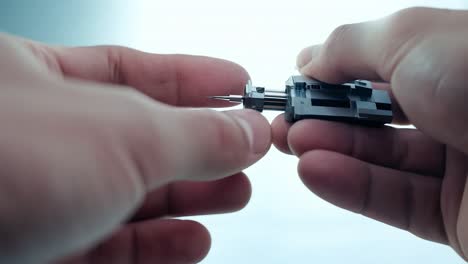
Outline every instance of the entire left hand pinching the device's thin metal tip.
<svg viewBox="0 0 468 264"><path fill-rule="evenodd" d="M208 231L162 218L241 209L240 171L267 152L270 126L254 111L175 106L226 106L206 96L247 79L206 57L1 35L0 262L201 260Z"/></svg>

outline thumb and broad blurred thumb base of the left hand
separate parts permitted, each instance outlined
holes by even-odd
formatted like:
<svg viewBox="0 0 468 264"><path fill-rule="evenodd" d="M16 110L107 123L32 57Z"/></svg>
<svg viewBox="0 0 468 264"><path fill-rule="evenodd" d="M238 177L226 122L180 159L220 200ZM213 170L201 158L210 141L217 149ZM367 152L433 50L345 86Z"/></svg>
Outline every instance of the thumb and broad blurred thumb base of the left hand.
<svg viewBox="0 0 468 264"><path fill-rule="evenodd" d="M83 250L115 230L149 191L235 174L270 146L267 120L251 110L175 108L81 81L39 85L47 88L0 98L7 109L0 194L16 201L0 204L0 262ZM18 104L22 93L36 100Z"/></svg>

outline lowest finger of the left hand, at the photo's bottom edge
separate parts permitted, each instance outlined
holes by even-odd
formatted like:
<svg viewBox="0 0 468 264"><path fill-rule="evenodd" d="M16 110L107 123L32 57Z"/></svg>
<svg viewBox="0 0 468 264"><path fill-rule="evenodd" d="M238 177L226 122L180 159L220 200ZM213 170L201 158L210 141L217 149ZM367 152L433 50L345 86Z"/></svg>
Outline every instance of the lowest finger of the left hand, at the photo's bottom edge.
<svg viewBox="0 0 468 264"><path fill-rule="evenodd" d="M124 225L83 258L90 263L115 263L129 257L135 263L198 263L210 247L210 233L198 222L151 219Z"/></svg>

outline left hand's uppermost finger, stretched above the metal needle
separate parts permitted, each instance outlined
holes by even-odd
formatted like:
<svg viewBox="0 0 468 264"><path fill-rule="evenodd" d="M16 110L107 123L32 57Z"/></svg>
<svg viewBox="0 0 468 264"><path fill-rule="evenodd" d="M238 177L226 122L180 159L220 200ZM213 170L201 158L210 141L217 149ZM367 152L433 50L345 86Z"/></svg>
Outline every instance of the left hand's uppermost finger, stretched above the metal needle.
<svg viewBox="0 0 468 264"><path fill-rule="evenodd" d="M177 106L232 106L208 96L240 94L249 79L238 64L204 56L150 54L118 46L39 50L64 77L131 86Z"/></svg>

